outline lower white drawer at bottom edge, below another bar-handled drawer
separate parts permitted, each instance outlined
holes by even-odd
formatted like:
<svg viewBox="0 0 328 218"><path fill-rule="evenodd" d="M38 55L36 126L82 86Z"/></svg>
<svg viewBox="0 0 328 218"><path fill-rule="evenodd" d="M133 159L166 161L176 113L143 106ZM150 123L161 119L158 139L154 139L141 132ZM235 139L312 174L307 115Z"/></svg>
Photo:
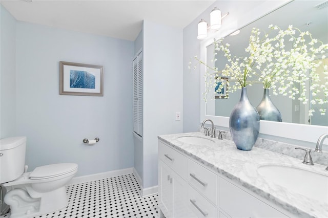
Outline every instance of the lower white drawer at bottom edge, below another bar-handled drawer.
<svg viewBox="0 0 328 218"><path fill-rule="evenodd" d="M188 207L192 217L217 217L216 207L202 197L191 185L188 185Z"/></svg>

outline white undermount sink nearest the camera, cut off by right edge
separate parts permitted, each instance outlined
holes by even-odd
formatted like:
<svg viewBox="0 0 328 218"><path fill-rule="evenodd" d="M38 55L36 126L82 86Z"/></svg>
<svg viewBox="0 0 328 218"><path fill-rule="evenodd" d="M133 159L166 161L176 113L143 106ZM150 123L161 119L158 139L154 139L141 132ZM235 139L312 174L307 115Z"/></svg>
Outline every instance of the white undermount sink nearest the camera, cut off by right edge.
<svg viewBox="0 0 328 218"><path fill-rule="evenodd" d="M328 173L282 165L264 165L258 168L264 180L275 183L308 198L328 204Z"/></svg>

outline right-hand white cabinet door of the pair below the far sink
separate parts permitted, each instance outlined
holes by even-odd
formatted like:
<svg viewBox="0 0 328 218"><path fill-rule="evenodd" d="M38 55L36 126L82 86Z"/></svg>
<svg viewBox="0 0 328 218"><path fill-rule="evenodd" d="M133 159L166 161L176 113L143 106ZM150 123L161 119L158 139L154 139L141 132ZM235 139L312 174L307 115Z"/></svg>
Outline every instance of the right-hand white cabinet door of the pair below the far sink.
<svg viewBox="0 0 328 218"><path fill-rule="evenodd" d="M173 192L173 214L175 218L189 218L190 212L187 204L187 187L188 184L176 172L171 170L173 177L172 192Z"/></svg>

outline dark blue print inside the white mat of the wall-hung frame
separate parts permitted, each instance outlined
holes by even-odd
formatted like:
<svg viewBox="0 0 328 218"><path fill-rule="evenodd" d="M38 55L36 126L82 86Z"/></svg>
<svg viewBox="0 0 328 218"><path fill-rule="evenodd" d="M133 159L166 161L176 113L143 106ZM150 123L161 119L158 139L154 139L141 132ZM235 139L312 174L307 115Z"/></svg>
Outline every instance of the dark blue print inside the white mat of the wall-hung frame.
<svg viewBox="0 0 328 218"><path fill-rule="evenodd" d="M95 89L96 77L87 71L70 70L70 88Z"/></svg>

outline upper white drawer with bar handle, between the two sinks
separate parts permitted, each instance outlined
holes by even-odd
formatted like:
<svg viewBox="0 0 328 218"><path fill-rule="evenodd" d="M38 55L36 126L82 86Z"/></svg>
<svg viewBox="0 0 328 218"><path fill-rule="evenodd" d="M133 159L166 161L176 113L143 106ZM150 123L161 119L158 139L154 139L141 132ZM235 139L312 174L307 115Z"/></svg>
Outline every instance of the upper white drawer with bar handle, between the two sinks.
<svg viewBox="0 0 328 218"><path fill-rule="evenodd" d="M188 181L189 183L217 205L217 176L215 173L188 159Z"/></svg>

